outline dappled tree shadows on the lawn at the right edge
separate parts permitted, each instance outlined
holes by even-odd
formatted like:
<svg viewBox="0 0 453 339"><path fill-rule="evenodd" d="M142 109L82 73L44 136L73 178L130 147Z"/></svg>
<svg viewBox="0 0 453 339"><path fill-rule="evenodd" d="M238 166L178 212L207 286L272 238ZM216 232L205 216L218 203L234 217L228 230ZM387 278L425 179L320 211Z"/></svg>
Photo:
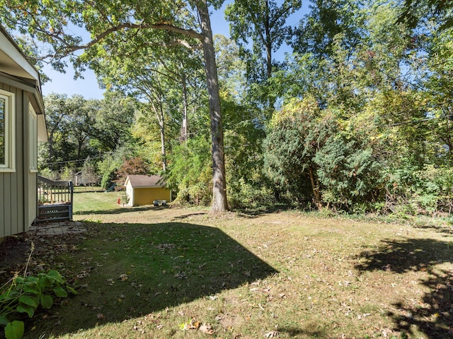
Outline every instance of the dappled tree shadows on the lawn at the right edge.
<svg viewBox="0 0 453 339"><path fill-rule="evenodd" d="M420 285L430 289L419 304L394 304L398 314L389 312L394 319L395 330L412 333L411 326L428 338L453 338L453 271L432 268L440 263L453 261L453 243L435 239L386 240L375 251L360 254L364 262L355 267L359 270L386 270L394 273L425 271L428 278L420 279Z"/></svg>

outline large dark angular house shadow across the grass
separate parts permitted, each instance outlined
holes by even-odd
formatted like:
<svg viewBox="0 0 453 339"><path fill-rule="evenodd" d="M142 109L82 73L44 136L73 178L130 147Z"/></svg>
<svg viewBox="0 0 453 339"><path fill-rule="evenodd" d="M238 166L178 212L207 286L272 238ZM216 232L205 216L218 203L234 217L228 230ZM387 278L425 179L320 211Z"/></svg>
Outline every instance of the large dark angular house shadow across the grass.
<svg viewBox="0 0 453 339"><path fill-rule="evenodd" d="M277 273L215 227L182 222L88 226L76 251L60 259L79 286L64 306L33 319L37 335L75 333L165 310ZM73 278L70 278L70 277Z"/></svg>

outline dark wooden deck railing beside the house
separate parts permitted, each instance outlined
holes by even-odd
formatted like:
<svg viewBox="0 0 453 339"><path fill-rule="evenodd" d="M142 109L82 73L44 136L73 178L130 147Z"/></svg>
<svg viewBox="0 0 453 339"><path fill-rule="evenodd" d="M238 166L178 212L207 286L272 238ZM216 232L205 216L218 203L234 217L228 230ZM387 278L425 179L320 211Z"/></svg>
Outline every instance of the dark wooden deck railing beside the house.
<svg viewBox="0 0 453 339"><path fill-rule="evenodd" d="M72 220L74 186L38 175L38 221Z"/></svg>

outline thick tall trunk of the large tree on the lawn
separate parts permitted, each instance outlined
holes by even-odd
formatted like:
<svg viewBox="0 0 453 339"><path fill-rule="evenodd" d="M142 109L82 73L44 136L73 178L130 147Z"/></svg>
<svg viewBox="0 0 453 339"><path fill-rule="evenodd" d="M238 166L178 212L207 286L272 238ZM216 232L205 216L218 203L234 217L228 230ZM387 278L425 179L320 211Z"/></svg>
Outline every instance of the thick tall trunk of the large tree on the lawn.
<svg viewBox="0 0 453 339"><path fill-rule="evenodd" d="M223 213L228 210L228 203L226 201L224 132L222 127L222 110L220 108L220 93L219 82L217 80L214 42L212 40L210 13L206 0L197 1L197 12L200 16L207 91L210 96L213 179L211 213Z"/></svg>

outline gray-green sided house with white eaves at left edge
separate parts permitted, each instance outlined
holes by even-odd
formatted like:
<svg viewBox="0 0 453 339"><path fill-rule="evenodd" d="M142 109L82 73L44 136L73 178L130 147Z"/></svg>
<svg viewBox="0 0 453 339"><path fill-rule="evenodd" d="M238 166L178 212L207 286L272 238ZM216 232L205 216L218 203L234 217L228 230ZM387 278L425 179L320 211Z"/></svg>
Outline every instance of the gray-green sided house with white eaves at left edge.
<svg viewBox="0 0 453 339"><path fill-rule="evenodd" d="M0 239L38 215L38 142L47 141L40 74L0 25Z"/></svg>

